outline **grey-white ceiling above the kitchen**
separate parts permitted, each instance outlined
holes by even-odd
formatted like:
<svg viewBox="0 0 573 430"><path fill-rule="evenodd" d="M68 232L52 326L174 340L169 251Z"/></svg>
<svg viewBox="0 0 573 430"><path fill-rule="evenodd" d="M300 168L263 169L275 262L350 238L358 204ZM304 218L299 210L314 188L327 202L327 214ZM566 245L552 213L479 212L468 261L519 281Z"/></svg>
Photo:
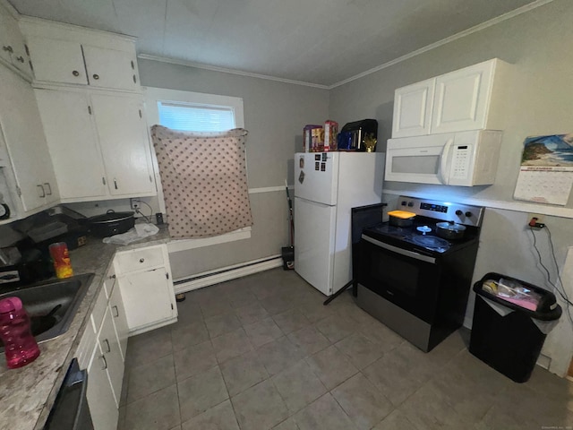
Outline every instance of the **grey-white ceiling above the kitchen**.
<svg viewBox="0 0 573 430"><path fill-rule="evenodd" d="M546 0L8 0L138 38L138 54L330 87Z"/></svg>

